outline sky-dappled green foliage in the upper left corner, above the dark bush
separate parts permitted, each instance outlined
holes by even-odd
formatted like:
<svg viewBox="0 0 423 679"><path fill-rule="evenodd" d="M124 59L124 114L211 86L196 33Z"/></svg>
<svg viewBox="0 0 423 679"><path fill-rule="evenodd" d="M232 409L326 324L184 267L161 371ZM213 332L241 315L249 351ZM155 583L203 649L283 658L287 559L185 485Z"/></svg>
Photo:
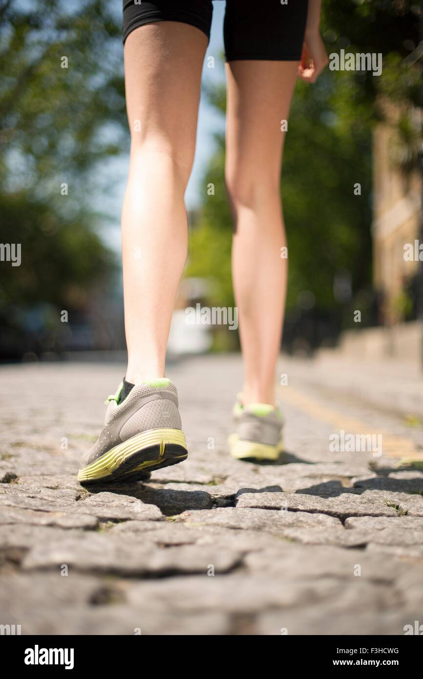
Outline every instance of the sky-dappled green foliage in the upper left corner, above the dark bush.
<svg viewBox="0 0 423 679"><path fill-rule="evenodd" d="M68 181L86 191L96 162L122 145L119 24L100 0L29 6L12 1L0 13L0 186L48 195Z"/></svg>

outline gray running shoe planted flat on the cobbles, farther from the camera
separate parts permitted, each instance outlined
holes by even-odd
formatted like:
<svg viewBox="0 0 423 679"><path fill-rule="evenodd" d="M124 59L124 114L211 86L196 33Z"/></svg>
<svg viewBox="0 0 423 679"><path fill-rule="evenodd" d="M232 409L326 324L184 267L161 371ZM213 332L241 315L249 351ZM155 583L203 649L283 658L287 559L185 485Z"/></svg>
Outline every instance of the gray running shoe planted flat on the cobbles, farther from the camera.
<svg viewBox="0 0 423 679"><path fill-rule="evenodd" d="M267 403L242 406L240 395L234 406L234 433L228 443L238 460L278 460L282 453L282 414Z"/></svg>

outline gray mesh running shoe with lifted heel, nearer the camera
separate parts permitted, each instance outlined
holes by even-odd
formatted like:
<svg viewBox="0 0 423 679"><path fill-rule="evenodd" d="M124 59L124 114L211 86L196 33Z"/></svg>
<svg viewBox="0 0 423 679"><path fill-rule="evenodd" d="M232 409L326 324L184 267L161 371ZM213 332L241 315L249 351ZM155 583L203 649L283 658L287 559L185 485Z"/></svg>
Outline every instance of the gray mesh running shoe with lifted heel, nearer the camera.
<svg viewBox="0 0 423 679"><path fill-rule="evenodd" d="M80 483L137 480L187 458L174 384L167 378L136 384L119 403L122 388L106 401L105 427L81 460Z"/></svg>

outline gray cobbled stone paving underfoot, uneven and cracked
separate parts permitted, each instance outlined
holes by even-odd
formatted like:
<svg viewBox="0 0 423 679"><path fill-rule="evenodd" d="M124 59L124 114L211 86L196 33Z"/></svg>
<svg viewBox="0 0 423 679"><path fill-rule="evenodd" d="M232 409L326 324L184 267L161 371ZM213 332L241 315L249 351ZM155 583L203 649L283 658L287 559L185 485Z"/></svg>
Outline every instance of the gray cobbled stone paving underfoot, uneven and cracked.
<svg viewBox="0 0 423 679"><path fill-rule="evenodd" d="M399 635L423 623L421 375L404 368L397 392L392 370L281 358L284 457L252 464L226 448L239 356L170 365L188 460L145 483L86 490L79 456L123 370L0 369L0 624ZM333 452L341 430L381 435L382 454Z"/></svg>

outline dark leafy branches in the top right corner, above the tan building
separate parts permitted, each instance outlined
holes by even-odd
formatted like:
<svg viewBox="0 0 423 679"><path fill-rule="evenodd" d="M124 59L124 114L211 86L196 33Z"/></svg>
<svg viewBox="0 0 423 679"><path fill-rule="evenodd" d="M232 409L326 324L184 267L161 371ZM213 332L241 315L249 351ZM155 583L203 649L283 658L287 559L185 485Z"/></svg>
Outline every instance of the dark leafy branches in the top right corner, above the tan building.
<svg viewBox="0 0 423 679"><path fill-rule="evenodd" d="M361 52L382 54L382 73L350 73L354 102L362 122L386 120L386 103L400 115L395 126L403 141L404 152L397 158L403 170L416 168L422 137L421 119L414 115L422 107L421 3L416 0L324 0L322 29L329 53ZM345 81L345 73L342 73ZM389 108L389 106L388 106ZM339 111L344 124L350 125L356 111Z"/></svg>

